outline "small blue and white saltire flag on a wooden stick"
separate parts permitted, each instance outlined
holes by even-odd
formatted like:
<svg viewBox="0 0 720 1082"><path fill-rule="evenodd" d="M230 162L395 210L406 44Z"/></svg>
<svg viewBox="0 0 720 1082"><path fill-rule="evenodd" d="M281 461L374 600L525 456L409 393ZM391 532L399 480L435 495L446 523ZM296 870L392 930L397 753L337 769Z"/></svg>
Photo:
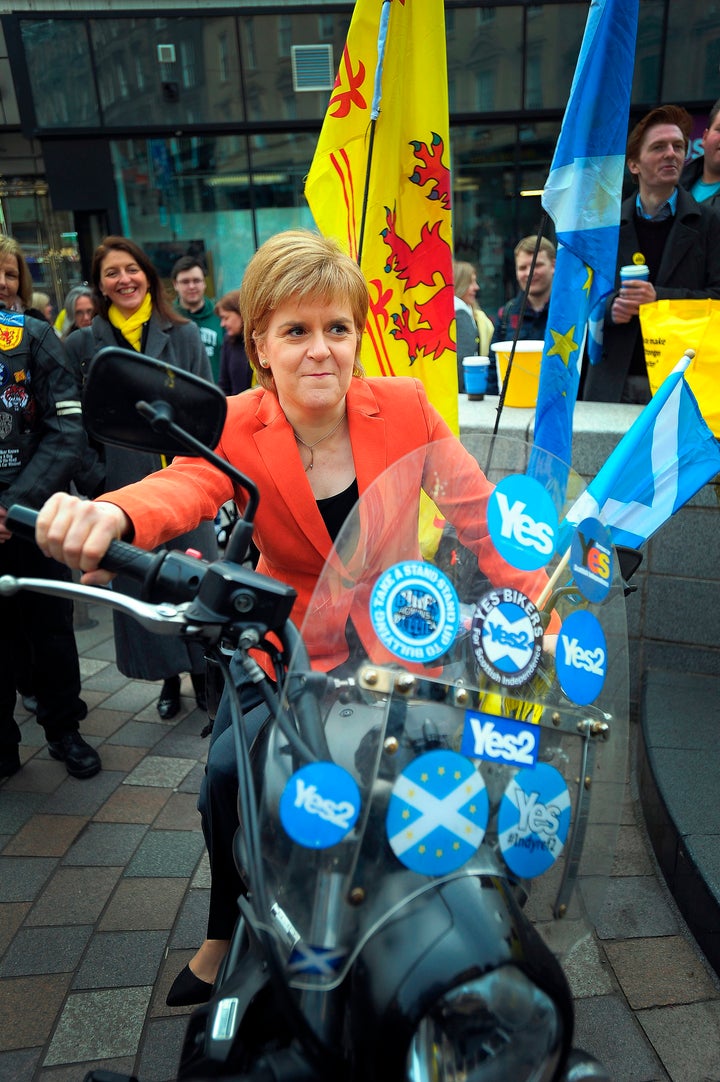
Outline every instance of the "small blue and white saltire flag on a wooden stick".
<svg viewBox="0 0 720 1082"><path fill-rule="evenodd" d="M720 473L720 444L685 380L692 357L689 351L663 381L567 512L565 525L600 518L615 544L639 549Z"/></svg>

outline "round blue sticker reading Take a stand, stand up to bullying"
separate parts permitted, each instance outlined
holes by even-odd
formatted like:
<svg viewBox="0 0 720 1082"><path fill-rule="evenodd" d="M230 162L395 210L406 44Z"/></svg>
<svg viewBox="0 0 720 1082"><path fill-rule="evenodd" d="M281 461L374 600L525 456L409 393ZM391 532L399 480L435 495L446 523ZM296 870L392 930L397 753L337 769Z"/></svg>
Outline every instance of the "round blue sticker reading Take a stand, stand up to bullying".
<svg viewBox="0 0 720 1082"><path fill-rule="evenodd" d="M453 645L460 602L450 580L432 564L394 564L370 595L370 619L382 645L404 661L428 662Z"/></svg>

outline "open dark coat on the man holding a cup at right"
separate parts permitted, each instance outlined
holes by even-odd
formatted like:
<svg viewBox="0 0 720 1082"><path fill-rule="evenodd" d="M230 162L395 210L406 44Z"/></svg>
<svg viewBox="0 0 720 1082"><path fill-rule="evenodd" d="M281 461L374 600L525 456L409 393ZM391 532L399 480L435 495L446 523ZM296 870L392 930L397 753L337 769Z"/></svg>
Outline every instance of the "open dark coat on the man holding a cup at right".
<svg viewBox="0 0 720 1082"><path fill-rule="evenodd" d="M623 203L617 246L615 288L619 268L632 262L639 250L636 232L636 196ZM684 188L678 188L678 207L653 282L657 300L720 298L720 215L697 203ZM611 308L617 292L605 304L603 359L588 368L584 398L589 401L620 401L641 329L634 316L627 324L614 324Z"/></svg>

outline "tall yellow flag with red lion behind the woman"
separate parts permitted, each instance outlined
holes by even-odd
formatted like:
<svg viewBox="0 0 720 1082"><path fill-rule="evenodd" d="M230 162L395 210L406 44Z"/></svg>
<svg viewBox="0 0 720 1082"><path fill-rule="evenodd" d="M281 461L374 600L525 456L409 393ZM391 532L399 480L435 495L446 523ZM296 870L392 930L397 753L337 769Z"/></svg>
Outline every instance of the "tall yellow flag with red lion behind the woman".
<svg viewBox="0 0 720 1082"><path fill-rule="evenodd" d="M305 197L370 289L363 365L458 432L443 0L357 0Z"/></svg>

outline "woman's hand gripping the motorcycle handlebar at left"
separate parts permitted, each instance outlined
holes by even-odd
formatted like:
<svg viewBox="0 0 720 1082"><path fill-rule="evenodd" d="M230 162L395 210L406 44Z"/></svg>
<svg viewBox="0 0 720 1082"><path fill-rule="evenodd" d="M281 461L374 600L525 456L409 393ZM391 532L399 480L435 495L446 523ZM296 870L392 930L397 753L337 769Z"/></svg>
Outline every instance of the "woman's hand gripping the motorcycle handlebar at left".
<svg viewBox="0 0 720 1082"><path fill-rule="evenodd" d="M38 514L35 537L45 556L79 568L84 585L102 586L113 576L100 570L100 562L110 541L119 540L131 528L125 511L114 503L55 492Z"/></svg>

